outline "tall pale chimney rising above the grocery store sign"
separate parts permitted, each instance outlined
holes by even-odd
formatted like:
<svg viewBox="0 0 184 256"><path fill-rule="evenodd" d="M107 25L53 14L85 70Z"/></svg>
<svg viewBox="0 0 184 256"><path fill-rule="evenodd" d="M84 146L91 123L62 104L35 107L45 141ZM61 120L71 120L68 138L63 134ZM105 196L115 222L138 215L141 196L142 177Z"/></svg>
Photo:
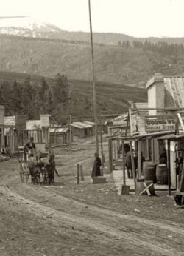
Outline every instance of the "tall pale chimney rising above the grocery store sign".
<svg viewBox="0 0 184 256"><path fill-rule="evenodd" d="M164 80L163 75L156 73L146 84L148 94L148 107L155 109L164 108ZM157 115L158 110L149 110L149 115Z"/></svg>

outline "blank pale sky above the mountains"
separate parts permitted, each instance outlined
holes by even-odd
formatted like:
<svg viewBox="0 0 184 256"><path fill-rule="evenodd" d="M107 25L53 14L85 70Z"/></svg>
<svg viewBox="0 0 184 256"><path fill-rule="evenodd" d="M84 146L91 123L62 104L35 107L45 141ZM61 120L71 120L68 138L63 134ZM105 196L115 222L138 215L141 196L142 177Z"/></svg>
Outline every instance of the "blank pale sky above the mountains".
<svg viewBox="0 0 184 256"><path fill-rule="evenodd" d="M0 0L0 16L32 16L63 30L89 31L88 0ZM91 0L93 32L184 36L184 0Z"/></svg>

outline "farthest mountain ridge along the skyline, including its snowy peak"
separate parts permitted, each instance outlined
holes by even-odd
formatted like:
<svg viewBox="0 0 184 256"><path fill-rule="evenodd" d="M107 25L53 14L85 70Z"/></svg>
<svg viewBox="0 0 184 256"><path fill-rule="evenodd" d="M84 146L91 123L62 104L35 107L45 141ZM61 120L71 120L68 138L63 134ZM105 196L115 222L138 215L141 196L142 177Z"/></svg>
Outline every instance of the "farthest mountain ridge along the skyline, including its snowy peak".
<svg viewBox="0 0 184 256"><path fill-rule="evenodd" d="M9 24L7 26L2 24L8 21ZM10 22L12 20L12 22ZM18 26L19 24L19 26ZM25 25L20 25L25 24ZM28 24L32 24L34 27L34 31L28 26ZM45 29L39 30L39 24L44 24ZM43 26L43 27L44 27ZM34 32L34 33L33 33ZM69 41L90 41L89 33L83 31L68 31L63 30L62 28L51 24L47 21L41 21L38 18L32 18L30 16L0 16L0 33L5 33L9 35L15 36L32 36L38 38L58 38ZM48 33L48 34L46 34ZM116 45L119 41L166 41L169 44L184 44L184 36L178 38L171 37L145 37L138 38L135 36L130 36L124 33L99 33L93 32L93 41L99 44L112 44Z"/></svg>

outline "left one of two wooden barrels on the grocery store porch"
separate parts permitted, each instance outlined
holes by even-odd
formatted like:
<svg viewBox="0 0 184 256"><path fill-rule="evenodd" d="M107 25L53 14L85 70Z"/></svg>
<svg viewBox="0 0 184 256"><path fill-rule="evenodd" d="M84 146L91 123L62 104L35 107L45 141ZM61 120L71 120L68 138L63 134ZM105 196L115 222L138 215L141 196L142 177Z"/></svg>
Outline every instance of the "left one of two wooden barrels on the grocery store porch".
<svg viewBox="0 0 184 256"><path fill-rule="evenodd" d="M151 161L143 162L144 179L156 182L156 164Z"/></svg>

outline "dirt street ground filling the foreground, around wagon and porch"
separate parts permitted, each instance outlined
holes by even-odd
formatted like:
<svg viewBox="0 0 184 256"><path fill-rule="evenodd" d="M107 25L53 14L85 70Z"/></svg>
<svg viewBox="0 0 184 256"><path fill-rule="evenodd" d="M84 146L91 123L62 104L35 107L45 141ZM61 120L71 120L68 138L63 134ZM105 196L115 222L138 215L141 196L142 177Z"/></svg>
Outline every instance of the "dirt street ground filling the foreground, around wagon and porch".
<svg viewBox="0 0 184 256"><path fill-rule="evenodd" d="M173 199L119 197L108 191L110 178L95 186L87 177L77 186L84 152L71 152L67 164L63 152L55 187L21 184L16 160L1 165L0 255L183 255L183 211ZM92 152L88 144L86 155Z"/></svg>

